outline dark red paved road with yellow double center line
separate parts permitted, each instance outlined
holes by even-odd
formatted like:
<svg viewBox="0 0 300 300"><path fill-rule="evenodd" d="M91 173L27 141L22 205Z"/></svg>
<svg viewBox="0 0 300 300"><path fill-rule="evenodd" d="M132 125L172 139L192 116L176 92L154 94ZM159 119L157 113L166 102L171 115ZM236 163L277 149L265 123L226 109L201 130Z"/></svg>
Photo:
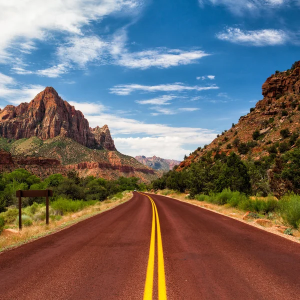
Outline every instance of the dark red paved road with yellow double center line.
<svg viewBox="0 0 300 300"><path fill-rule="evenodd" d="M300 298L300 244L148 196L0 254L0 299Z"/></svg>

